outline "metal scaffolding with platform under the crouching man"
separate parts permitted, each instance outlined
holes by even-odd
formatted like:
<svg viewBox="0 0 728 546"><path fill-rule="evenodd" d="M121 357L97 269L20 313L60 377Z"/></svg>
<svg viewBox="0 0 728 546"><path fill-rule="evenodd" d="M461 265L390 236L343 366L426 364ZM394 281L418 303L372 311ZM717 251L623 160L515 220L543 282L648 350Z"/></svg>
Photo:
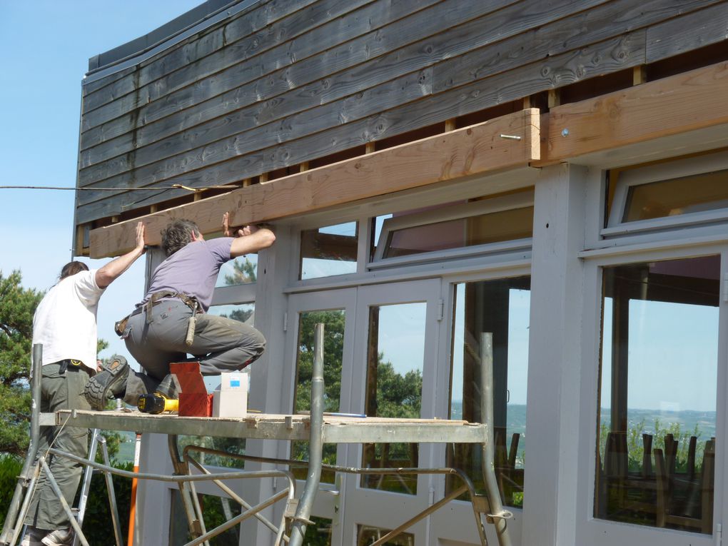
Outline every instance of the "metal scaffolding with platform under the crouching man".
<svg viewBox="0 0 728 546"><path fill-rule="evenodd" d="M38 346L36 346L38 347ZM47 454L37 454L39 427L42 425L68 425L73 427L87 427L106 430L127 430L131 432L155 432L168 435L170 456L175 470L174 475L159 475L145 472L129 472L111 467L108 464L98 464L89 459L83 459L71 454L50 448L48 454L64 456L76 462L87 465L103 472L107 485L111 482L111 474L140 480L158 480L178 483L183 507L191 537L194 539L186 546L199 544L209 545L209 539L230 529L242 521L257 518L267 529L272 531L274 546L300 546L303 544L306 526L310 521L314 497L319 489L320 475L323 469L334 472L359 475L419 475L437 474L452 475L462 481L462 485L448 493L443 499L422 510L413 518L405 521L397 529L389 531L384 537L373 542L372 546L383 545L389 539L400 534L414 523L426 518L448 502L467 492L472 502L475 515L475 524L478 537L483 546L488 544L486 538L486 523L493 523L496 537L500 546L510 546L510 535L507 529L507 518L511 513L504 510L501 504L499 489L494 471L493 453L493 410L492 410L492 335L484 333L481 339L481 415L483 423L470 423L447 419L387 419L379 417L347 417L331 416L323 413L323 325L317 324L314 336L314 363L312 377L311 411L309 415L277 415L277 414L249 414L242 418L210 418L210 417L181 417L171 414L141 414L124 411L58 411L55 414L40 414L40 357L36 357L36 347L33 347L33 373L31 384L33 389L33 416L31 419L31 446L28 449L28 458L23 466L15 496L9 507L3 533L0 535L0 545L15 546L20 532L23 529L23 520L28 511L28 505L40 472L46 472L52 484L55 480L48 470L45 462ZM38 351L39 352L39 351ZM260 440L306 440L309 443L308 462L289 459L272 459L248 455L233 455L223 451L215 451L199 446L187 446L180 453L177 435L202 435L228 438L250 438ZM486 485L486 496L476 493L470 477L456 468L353 468L339 467L323 463L323 444L325 443L475 443L482 449L482 472ZM208 471L190 456L191 451L220 456L232 457L269 464L286 465L291 467L307 467L308 472L303 491L296 496L296 478L289 470L240 470L237 472ZM288 486L256 505L250 505L240 496L226 486L225 480L257 478L285 478ZM205 529L202 518L202 509L197 499L195 483L211 481L221 491L238 502L242 513L229 519L214 529ZM110 502L115 506L113 488L109 490ZM61 504L71 519L76 531L77 539L83 546L88 542L79 523L72 517L71 508L68 507L60 490L56 488ZM261 511L276 502L285 499L285 510L278 523L272 523ZM116 522L118 523L118 522ZM123 546L119 533L116 533L116 546ZM129 545L131 546L131 545Z"/></svg>

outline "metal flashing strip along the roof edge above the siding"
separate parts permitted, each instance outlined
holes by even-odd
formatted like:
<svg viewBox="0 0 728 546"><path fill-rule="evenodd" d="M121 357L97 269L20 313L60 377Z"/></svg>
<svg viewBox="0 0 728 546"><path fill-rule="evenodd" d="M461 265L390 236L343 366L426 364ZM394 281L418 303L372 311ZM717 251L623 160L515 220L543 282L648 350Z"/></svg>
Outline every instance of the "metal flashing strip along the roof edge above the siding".
<svg viewBox="0 0 728 546"><path fill-rule="evenodd" d="M84 79L82 80L81 84L86 85L90 84L91 82L95 82L99 79L105 78L106 76L109 76L111 74L116 74L116 72L124 70L124 68L129 68L130 66L135 66L144 60L147 60L154 55L157 55L158 53L170 49L170 47L174 47L175 45L179 44L181 41L189 38L190 36L193 36L196 33L199 33L200 31L204 31L205 28L209 28L212 25L215 25L216 23L220 23L222 20L225 20L229 17L233 17L234 15L239 14L240 12L245 11L246 9L250 9L251 7L255 6L256 4L259 4L262 0L242 0L240 2L229 2L228 4L223 5L222 7L216 9L212 13L205 15L205 17L202 18L202 20L199 20L198 23L194 23L191 25L188 25L186 27L183 27L179 29L178 31L173 32L170 34L170 36L167 36L163 39L159 39L158 41L154 42L154 44L151 44L137 52L130 53L129 55L126 55L125 57L113 60L111 62L106 63L103 66L98 66L97 68L90 68L94 61L98 64L98 60L103 56L106 55L106 53L100 53L99 55L95 55L95 57L92 57L89 59L89 71L84 76ZM199 8L199 6L198 6ZM190 12L194 11L197 8L191 9ZM189 12L187 12L189 13ZM184 17L183 14L180 17ZM178 17L178 18L180 18ZM162 25L164 26L164 25ZM160 27L162 28L162 27ZM159 30L159 28L157 29ZM130 42L127 42L127 44L132 44L135 41L139 39L146 38L147 36L153 36L156 31L151 31L150 33L147 33L145 36L141 36L138 39L132 40ZM119 46L115 49L123 48L125 45ZM114 51L114 50L111 50Z"/></svg>

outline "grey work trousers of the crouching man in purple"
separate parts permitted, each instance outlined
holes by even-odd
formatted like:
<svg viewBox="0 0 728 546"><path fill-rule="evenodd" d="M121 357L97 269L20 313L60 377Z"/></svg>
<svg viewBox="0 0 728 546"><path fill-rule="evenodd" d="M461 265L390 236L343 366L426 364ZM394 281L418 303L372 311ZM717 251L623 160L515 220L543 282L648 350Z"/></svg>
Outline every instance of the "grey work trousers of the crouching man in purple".
<svg viewBox="0 0 728 546"><path fill-rule="evenodd" d="M266 347L263 334L252 326L214 314L197 314L191 346L185 344L191 309L178 299L162 300L146 313L134 314L127 322L124 341L132 357L147 375L130 371L124 401L136 404L140 395L154 392L170 373L170 363L199 361L202 375L239 371L256 360Z"/></svg>

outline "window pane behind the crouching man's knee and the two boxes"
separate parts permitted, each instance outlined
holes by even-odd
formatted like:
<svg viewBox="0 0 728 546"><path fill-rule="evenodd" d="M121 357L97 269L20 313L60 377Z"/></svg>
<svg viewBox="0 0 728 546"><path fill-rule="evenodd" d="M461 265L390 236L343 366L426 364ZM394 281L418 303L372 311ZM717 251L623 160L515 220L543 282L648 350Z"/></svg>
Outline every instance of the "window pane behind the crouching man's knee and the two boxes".
<svg viewBox="0 0 728 546"><path fill-rule="evenodd" d="M213 305L207 311L220 317L228 317L239 320L241 323L252 324L255 318L255 304L240 305ZM253 364L255 365L255 364ZM204 376L207 392L213 392L220 385L220 376ZM248 381L250 385L250 381ZM218 438L212 436L191 436L181 435L179 437L180 451L184 446L201 446L204 448L224 451L229 454L245 455L245 438ZM232 459L224 455L204 454L193 451L192 456L198 462L215 467L244 468L245 462L242 459Z"/></svg>

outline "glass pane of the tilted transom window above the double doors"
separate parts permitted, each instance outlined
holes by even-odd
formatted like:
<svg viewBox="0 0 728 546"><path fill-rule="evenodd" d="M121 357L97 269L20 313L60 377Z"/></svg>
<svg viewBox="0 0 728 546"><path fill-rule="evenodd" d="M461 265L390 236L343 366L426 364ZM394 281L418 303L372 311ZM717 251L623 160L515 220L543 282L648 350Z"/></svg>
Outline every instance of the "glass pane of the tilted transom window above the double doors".
<svg viewBox="0 0 728 546"><path fill-rule="evenodd" d="M534 207L523 207L397 229L389 234L384 258L525 239L533 224Z"/></svg>

